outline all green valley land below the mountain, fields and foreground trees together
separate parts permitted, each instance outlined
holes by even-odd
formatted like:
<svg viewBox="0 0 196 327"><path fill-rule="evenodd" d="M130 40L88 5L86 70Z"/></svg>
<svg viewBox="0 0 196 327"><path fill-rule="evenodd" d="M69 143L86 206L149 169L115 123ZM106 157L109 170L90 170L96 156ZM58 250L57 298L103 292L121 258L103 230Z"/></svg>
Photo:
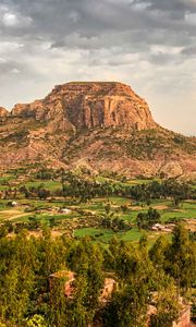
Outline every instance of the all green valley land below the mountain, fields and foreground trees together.
<svg viewBox="0 0 196 327"><path fill-rule="evenodd" d="M195 185L176 179L86 168L2 174L0 327L143 327L149 304L150 327L170 327L180 295L194 313L196 232L185 218L196 217L195 199ZM164 222L169 232L152 231ZM71 298L58 271L75 274ZM118 287L101 302L107 276Z"/></svg>

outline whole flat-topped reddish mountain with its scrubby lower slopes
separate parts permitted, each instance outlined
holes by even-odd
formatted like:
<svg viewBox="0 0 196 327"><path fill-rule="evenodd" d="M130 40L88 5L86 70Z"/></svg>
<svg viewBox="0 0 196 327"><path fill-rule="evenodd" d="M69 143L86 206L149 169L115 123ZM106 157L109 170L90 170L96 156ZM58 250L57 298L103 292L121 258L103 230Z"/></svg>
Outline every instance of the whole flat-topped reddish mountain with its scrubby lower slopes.
<svg viewBox="0 0 196 327"><path fill-rule="evenodd" d="M42 162L135 175L196 175L196 137L157 124L125 84L74 82L41 100L0 107L0 167Z"/></svg>

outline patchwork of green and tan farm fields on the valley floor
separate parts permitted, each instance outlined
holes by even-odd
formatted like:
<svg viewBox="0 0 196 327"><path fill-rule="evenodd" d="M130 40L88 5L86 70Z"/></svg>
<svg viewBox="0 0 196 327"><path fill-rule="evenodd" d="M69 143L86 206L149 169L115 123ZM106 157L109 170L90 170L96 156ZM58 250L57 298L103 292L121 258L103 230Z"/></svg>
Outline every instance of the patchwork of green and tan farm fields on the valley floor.
<svg viewBox="0 0 196 327"><path fill-rule="evenodd" d="M95 179L95 178L94 178ZM159 180L156 180L160 182ZM119 181L114 178L96 177L97 183L112 183L118 186L134 186L150 183L151 180L135 179ZM41 189L50 192L50 196L40 198L36 196L25 197L20 191ZM194 185L192 185L194 189ZM40 235L46 227L51 229L53 237L65 234L69 238L82 238L88 235L93 241L108 243L113 237L126 242L138 242L142 234L147 234L149 243L152 243L160 234L170 238L173 223L181 221L192 232L196 231L196 201L183 199L174 205L172 198L151 199L150 204L135 201L125 195L95 196L81 202L73 196L60 196L58 190L62 189L59 178L38 179L33 172L10 171L2 172L0 177L0 223L10 229L10 235L26 229L28 234ZM109 213L106 208L109 205ZM160 223L166 228L157 230L138 229L137 216L147 213L149 207L160 214ZM122 219L127 223L127 229L113 229L103 227L101 220L110 216L111 219Z"/></svg>

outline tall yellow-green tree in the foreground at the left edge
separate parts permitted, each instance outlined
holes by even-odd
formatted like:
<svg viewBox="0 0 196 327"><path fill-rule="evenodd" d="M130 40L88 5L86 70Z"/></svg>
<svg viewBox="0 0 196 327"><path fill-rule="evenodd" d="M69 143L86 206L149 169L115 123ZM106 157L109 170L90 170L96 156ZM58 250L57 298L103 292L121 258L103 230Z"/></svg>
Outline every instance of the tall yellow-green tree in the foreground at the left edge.
<svg viewBox="0 0 196 327"><path fill-rule="evenodd" d="M35 253L24 233L13 241L10 259L0 278L0 315L11 324L22 323L34 289ZM2 251L1 251L2 254Z"/></svg>

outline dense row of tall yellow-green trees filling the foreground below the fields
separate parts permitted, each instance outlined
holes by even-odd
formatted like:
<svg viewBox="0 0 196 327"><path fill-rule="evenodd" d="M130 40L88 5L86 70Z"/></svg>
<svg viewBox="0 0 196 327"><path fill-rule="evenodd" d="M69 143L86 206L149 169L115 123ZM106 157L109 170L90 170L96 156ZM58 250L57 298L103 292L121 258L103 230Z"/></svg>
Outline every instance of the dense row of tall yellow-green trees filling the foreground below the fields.
<svg viewBox="0 0 196 327"><path fill-rule="evenodd" d="M177 226L172 241L160 237L150 250L143 237L138 246L113 238L102 247L88 238L0 238L0 326L87 327L98 319L107 327L146 326L148 304L156 294L157 315L150 326L170 327L177 318L177 296L191 295L196 276L196 244ZM50 276L75 272L72 299L64 280L52 287ZM99 301L105 271L113 272L119 287L110 301Z"/></svg>

